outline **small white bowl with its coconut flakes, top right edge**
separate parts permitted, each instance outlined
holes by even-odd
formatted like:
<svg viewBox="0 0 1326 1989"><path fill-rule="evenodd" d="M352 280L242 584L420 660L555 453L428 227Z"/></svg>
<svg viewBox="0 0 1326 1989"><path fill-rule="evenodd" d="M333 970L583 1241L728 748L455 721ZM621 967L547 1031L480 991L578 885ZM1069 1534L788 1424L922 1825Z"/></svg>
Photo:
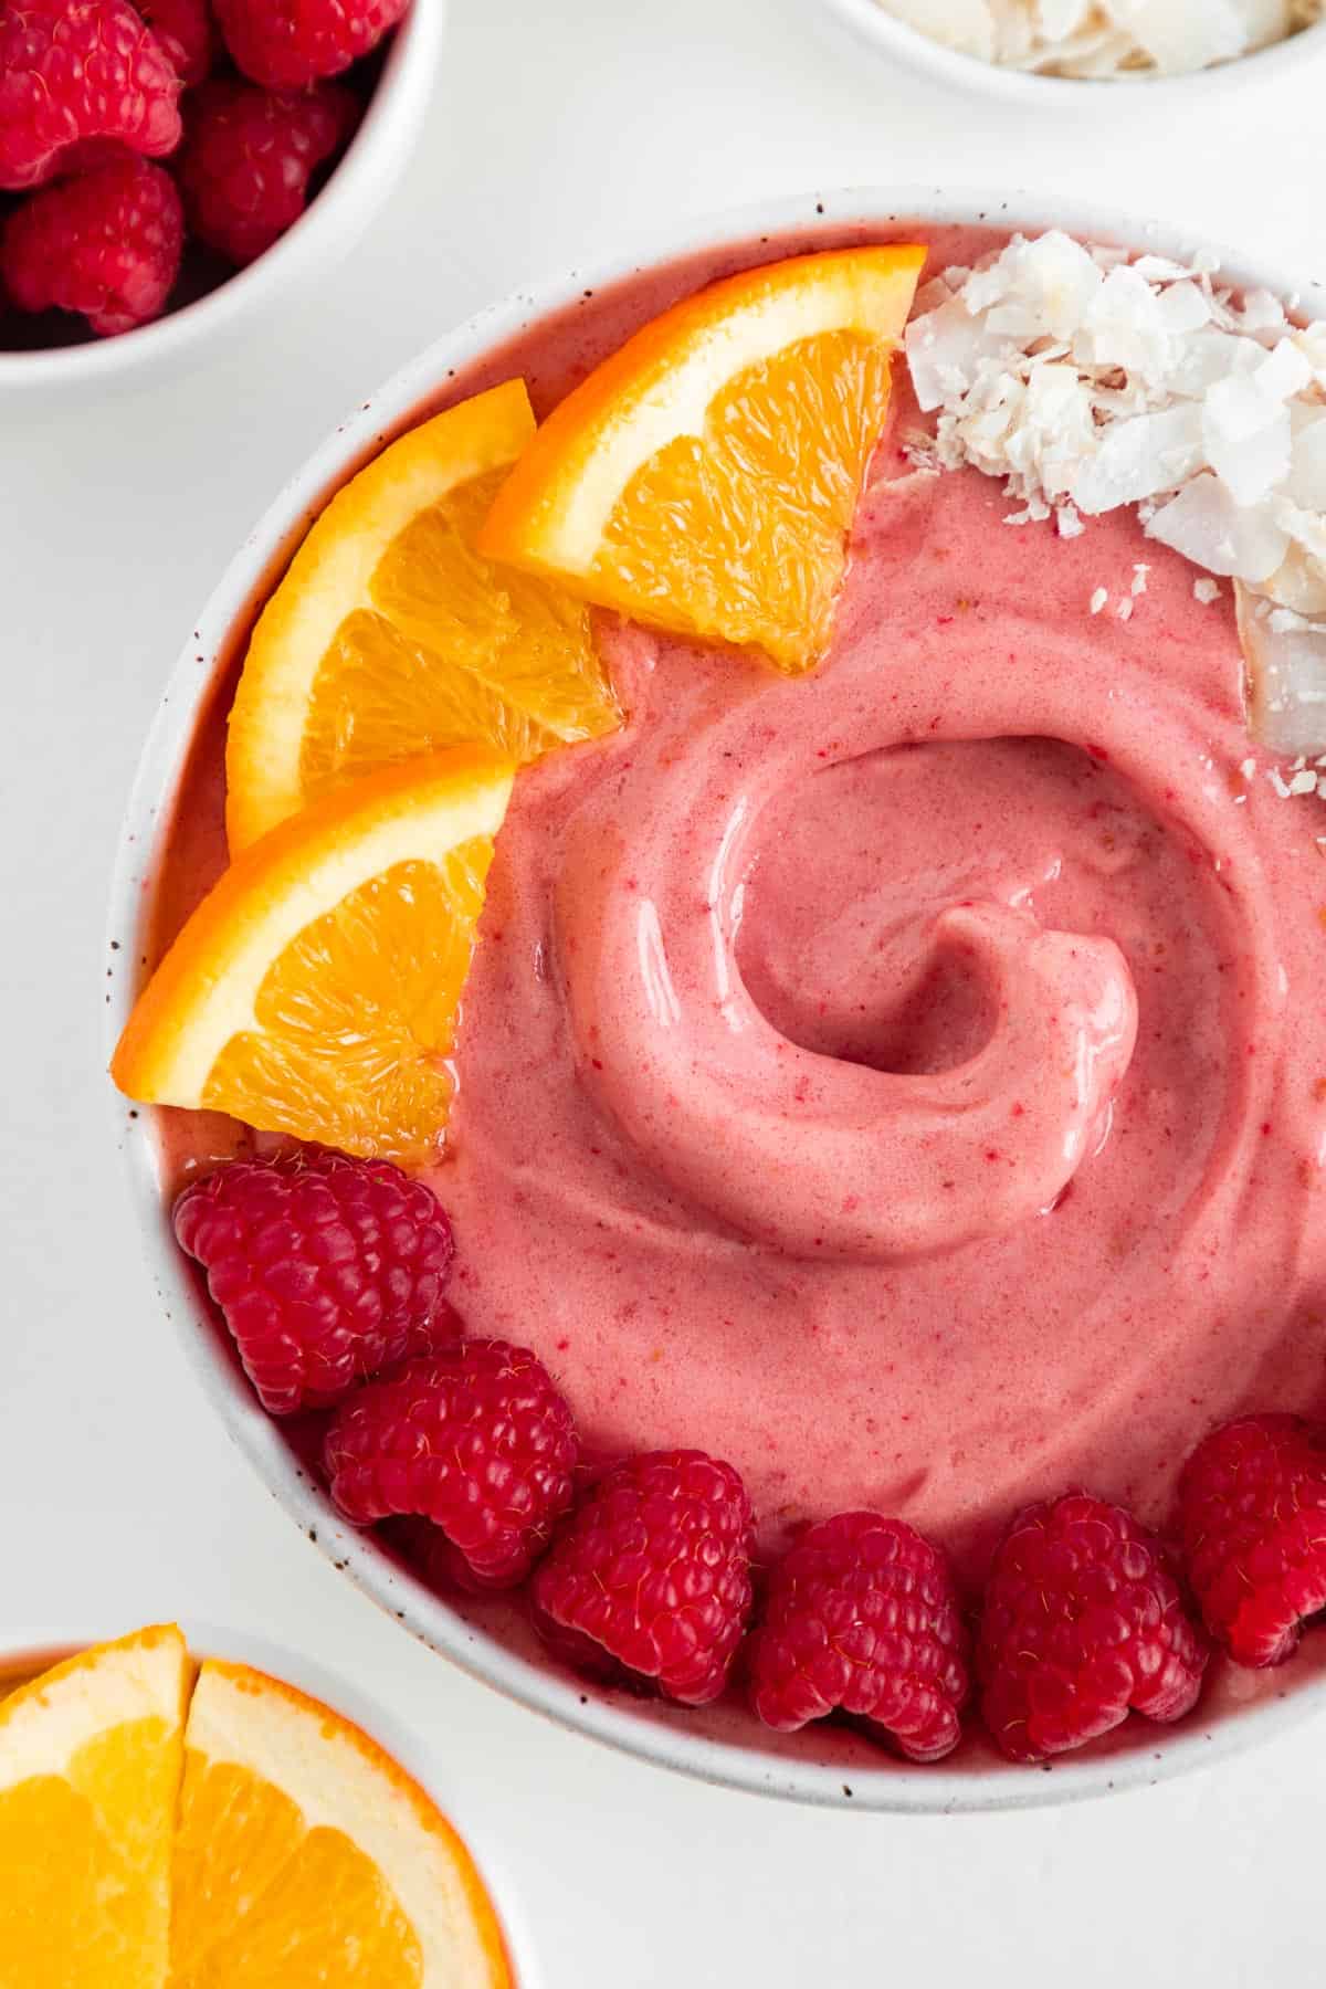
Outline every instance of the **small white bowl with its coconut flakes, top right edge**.
<svg viewBox="0 0 1326 1989"><path fill-rule="evenodd" d="M1326 0L815 0L881 56L1010 101L1201 99L1326 60ZM1115 88L1111 88L1115 86Z"/></svg>

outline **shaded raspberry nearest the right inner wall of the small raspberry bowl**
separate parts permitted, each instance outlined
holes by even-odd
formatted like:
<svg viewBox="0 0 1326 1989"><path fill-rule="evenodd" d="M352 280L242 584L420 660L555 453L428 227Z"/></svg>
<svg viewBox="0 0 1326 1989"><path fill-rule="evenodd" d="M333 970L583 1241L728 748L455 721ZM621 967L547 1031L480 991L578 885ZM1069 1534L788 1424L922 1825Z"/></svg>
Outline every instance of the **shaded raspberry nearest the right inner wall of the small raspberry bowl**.
<svg viewBox="0 0 1326 1989"><path fill-rule="evenodd" d="M231 263L252 263L304 213L308 179L348 137L358 105L348 90L276 95L217 80L189 105L181 185L199 241Z"/></svg>

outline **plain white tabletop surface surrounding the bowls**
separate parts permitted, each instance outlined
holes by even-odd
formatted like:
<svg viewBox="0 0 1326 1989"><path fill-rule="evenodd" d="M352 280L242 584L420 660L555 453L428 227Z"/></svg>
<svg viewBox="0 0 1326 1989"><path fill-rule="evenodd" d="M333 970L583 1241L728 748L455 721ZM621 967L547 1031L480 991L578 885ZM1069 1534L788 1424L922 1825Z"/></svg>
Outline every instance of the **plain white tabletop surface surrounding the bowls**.
<svg viewBox="0 0 1326 1989"><path fill-rule="evenodd" d="M809 0L453 0L388 221L243 348L113 402L0 404L0 1637L197 1615L427 1732L549 1989L1316 1981L1326 1726L1079 1810L891 1820L668 1778L469 1683L336 1575L153 1307L99 1084L103 897L195 609L338 414L439 330L638 229L811 185L1022 183L1326 274L1326 72L1219 127L1036 125L821 38Z"/></svg>

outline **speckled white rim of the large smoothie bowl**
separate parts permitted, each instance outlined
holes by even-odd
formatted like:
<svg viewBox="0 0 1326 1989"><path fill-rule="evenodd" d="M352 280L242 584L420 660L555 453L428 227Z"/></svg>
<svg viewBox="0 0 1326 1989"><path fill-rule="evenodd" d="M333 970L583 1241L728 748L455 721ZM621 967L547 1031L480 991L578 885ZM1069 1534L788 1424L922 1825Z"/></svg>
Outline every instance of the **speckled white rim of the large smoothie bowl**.
<svg viewBox="0 0 1326 1989"><path fill-rule="evenodd" d="M708 225L692 223L672 239L642 245L638 261L573 271L447 332L368 400L286 485L233 559L179 660L143 750L111 887L107 1058L131 1006L131 963L143 951L139 935L145 933L147 885L157 863L161 825L169 819L215 662L227 654L247 607L260 599L264 585L270 585L280 555L292 547L308 517L326 503L356 463L372 453L376 442L408 426L412 414L439 392L451 368L459 370L493 352L551 310L573 304L586 288L598 290L636 269L690 253L718 251L724 245L734 249L746 245L751 259L749 245L763 237L777 243L777 237L795 233L801 241L813 243L817 237L829 241L847 235L853 227L885 227L897 221L914 223L918 229L942 223L990 223L1000 229L1030 231L1064 227L1083 237L1135 243L1179 259L1209 247L1105 209L1022 193L982 197L926 187L811 193ZM1280 294L1296 290L1306 314L1326 316L1326 290L1312 290L1284 271L1260 269L1235 255L1227 259L1227 269L1233 280L1248 286L1264 284ZM99 994L105 989L107 983L99 981ZM157 1177L151 1116L131 1112L117 1096L113 1112L129 1195L161 1303L217 1414L276 1502L338 1567L344 1567L414 1635L565 1726L662 1766L759 1794L843 1808L946 1812L1024 1808L1155 1782L1248 1746L1312 1709L1326 1707L1326 1677L1314 1677L1314 1667L1326 1673L1326 1637L1322 1637L1308 1641L1308 1649L1288 1673L1235 1673L1231 1683L1207 1695L1201 1711L1187 1722L1173 1728L1127 1722L1111 1742L1097 1744L1083 1756L1064 1756L1052 1770L1014 1768L980 1744L964 1748L952 1764L916 1768L895 1762L861 1736L825 1722L805 1728L803 1734L777 1736L763 1732L747 1717L730 1717L714 1709L694 1715L580 1685L539 1659L533 1637L521 1629L515 1613L497 1627L489 1605L459 1613L417 1581L372 1536L336 1516L324 1492L292 1454L280 1424L258 1406L227 1335L211 1319L199 1285L175 1247Z"/></svg>

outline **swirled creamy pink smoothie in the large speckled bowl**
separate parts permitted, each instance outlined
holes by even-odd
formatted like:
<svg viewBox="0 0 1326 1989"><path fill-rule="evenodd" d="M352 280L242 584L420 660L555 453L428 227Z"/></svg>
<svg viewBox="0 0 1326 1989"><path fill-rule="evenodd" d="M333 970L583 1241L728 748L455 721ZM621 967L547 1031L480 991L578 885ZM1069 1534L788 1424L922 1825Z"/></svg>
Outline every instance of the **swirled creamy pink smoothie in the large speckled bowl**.
<svg viewBox="0 0 1326 1989"><path fill-rule="evenodd" d="M463 386L547 402L710 267ZM1239 774L1229 599L1006 509L881 450L803 680L608 631L630 726L521 776L489 879L457 1303L592 1450L728 1456L767 1547L873 1506L970 1559L1072 1482L1159 1520L1213 1420L1322 1406L1326 815ZM215 740L191 782L169 925Z"/></svg>

